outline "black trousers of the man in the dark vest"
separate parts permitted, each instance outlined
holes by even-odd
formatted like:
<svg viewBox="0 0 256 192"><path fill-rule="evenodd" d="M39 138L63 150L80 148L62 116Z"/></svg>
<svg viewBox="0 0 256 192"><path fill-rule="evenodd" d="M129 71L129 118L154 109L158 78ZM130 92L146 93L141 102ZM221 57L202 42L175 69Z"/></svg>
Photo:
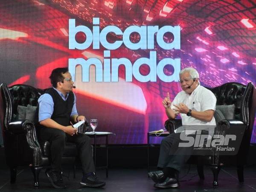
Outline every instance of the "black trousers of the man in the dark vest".
<svg viewBox="0 0 256 192"><path fill-rule="evenodd" d="M61 171L61 158L65 143L75 143L82 164L83 173L95 172L90 137L84 134L70 136L56 128L42 127L40 130L41 142L49 141L51 151L51 167L53 171Z"/></svg>

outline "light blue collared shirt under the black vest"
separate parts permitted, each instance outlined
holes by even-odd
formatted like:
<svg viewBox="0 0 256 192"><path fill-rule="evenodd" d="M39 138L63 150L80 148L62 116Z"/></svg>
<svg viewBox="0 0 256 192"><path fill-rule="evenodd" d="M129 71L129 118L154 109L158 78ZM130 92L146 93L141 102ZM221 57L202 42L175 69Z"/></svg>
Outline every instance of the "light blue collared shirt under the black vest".
<svg viewBox="0 0 256 192"><path fill-rule="evenodd" d="M54 90L56 90L58 92L58 94L61 96L61 98L66 101L69 93L66 94L66 97L63 95L63 93L61 93L59 90L55 89L54 87L52 87ZM43 121L45 119L49 119L52 117L52 113L53 113L53 107L54 107L54 102L52 99L52 96L48 93L44 93L43 95L41 95L38 99L38 103L39 103L39 111L38 111L38 120ZM76 96L74 93L74 105L72 108L72 112L70 114L70 116L73 115L78 115L77 111L76 111Z"/></svg>

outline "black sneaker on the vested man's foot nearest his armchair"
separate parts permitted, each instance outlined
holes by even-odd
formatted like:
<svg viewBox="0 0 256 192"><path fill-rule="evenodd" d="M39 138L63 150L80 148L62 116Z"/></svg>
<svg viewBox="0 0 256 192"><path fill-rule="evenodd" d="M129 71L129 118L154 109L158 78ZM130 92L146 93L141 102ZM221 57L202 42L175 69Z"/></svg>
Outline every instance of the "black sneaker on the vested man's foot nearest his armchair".
<svg viewBox="0 0 256 192"><path fill-rule="evenodd" d="M63 182L61 172L53 172L52 169L45 171L46 176L56 189L65 189L67 185Z"/></svg>

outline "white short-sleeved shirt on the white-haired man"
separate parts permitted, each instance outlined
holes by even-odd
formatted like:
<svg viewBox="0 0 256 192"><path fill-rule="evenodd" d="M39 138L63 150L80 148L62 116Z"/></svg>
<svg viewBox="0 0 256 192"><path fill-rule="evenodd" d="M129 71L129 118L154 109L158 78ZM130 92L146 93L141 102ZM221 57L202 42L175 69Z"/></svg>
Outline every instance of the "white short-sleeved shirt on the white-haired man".
<svg viewBox="0 0 256 192"><path fill-rule="evenodd" d="M207 88L198 85L195 90L189 95L185 91L181 91L175 96L171 108L175 110L175 106L179 103L184 103L189 109L194 111L215 111L216 97L212 91ZM216 125L214 116L210 122L205 122L199 119L195 119L192 116L187 116L184 113L180 113L182 125Z"/></svg>

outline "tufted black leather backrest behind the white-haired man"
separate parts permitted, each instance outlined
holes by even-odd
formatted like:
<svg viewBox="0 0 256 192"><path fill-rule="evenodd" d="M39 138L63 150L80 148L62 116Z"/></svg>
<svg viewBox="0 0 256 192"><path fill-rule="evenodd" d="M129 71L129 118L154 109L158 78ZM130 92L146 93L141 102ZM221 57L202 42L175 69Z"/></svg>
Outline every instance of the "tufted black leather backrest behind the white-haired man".
<svg viewBox="0 0 256 192"><path fill-rule="evenodd" d="M208 87L207 87L208 88ZM208 88L217 98L216 105L233 105L235 104L235 119L243 120L241 104L246 85L230 82L218 87Z"/></svg>

